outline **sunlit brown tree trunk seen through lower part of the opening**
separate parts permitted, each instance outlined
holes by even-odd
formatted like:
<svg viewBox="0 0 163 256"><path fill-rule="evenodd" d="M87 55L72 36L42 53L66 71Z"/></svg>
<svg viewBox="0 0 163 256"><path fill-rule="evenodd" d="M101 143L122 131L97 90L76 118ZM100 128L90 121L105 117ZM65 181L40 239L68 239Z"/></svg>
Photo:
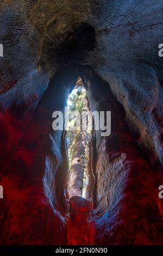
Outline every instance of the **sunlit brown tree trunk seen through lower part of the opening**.
<svg viewBox="0 0 163 256"><path fill-rule="evenodd" d="M75 138L74 149L72 153L72 163L70 168L70 176L68 183L68 191L70 198L72 196L82 197L84 166L83 156L85 154L85 132L79 131Z"/></svg>

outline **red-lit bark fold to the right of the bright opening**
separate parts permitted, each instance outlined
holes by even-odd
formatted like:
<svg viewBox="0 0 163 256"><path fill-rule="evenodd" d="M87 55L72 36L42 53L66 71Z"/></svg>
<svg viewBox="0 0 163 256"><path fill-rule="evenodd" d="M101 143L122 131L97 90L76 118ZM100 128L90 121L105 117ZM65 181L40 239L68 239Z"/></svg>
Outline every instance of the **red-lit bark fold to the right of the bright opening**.
<svg viewBox="0 0 163 256"><path fill-rule="evenodd" d="M85 81L87 79L85 78ZM92 111L111 111L111 135L96 132L95 244L162 244L162 173L152 168L131 137L126 113L104 81L91 74L87 97ZM100 99L100 100L99 100Z"/></svg>

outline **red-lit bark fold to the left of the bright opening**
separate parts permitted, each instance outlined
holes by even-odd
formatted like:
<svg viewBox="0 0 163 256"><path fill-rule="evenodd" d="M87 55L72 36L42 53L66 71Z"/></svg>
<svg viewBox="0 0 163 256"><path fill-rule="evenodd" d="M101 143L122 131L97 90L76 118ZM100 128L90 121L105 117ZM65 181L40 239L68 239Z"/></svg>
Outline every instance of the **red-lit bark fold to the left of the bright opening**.
<svg viewBox="0 0 163 256"><path fill-rule="evenodd" d="M62 83L63 76L67 82ZM63 216L68 165L62 150L62 131L52 130L52 113L64 108L65 89L76 79L66 69L55 74L35 109L14 159L5 172L1 169L0 182L4 188L4 199L0 204L2 245L67 243ZM18 118L13 112L11 115L14 120Z"/></svg>

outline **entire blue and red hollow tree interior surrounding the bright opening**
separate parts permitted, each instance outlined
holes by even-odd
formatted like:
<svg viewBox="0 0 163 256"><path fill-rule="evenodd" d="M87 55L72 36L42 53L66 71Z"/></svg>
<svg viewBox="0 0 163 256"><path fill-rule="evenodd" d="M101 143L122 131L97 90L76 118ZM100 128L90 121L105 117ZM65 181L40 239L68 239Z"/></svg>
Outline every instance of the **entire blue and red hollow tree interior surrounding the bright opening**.
<svg viewBox="0 0 163 256"><path fill-rule="evenodd" d="M52 113L81 76L91 111L112 112L91 151L95 244L162 245L162 0L0 5L0 243L67 243L65 135Z"/></svg>

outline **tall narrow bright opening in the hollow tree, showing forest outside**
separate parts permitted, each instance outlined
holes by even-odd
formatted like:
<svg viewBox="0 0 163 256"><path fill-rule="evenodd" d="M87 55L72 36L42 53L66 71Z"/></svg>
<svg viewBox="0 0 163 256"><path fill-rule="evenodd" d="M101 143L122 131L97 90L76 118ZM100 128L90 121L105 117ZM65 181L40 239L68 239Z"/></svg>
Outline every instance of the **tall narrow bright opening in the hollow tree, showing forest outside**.
<svg viewBox="0 0 163 256"><path fill-rule="evenodd" d="M85 197L88 184L87 161L91 127L89 126L88 117L82 119L82 114L87 111L89 111L89 106L86 90L83 86L82 79L78 77L76 87L72 90L67 100L67 114L69 116L67 122L67 151L69 162L67 188L70 198L73 196ZM71 118L75 112L75 118ZM80 114L80 126L76 126L77 112ZM83 122L85 122L85 130L82 129ZM76 129L71 129L72 126L76 126Z"/></svg>

